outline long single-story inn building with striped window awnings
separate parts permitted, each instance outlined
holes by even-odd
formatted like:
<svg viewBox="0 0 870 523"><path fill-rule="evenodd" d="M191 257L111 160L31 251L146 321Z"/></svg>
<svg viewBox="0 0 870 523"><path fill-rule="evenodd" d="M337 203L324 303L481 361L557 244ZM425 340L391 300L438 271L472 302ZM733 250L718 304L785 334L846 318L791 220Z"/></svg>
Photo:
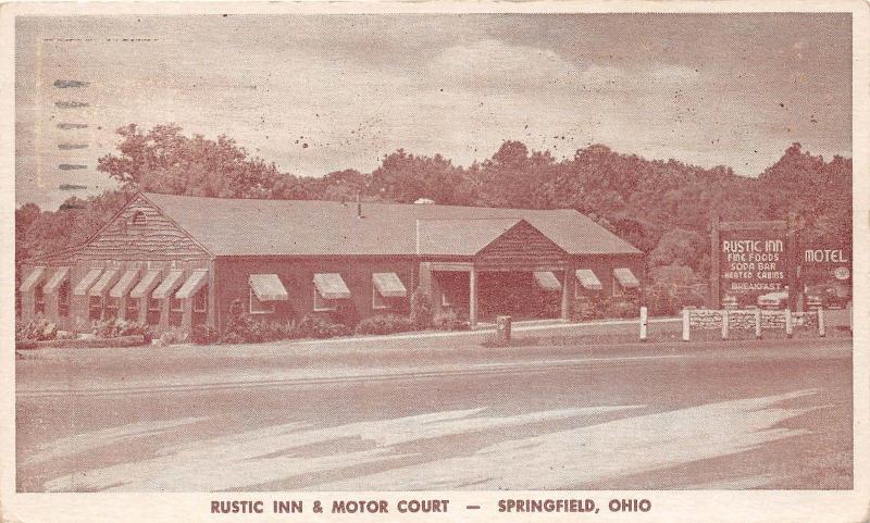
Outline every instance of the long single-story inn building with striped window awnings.
<svg viewBox="0 0 870 523"><path fill-rule="evenodd" d="M253 315L353 326L407 314L422 287L472 327L569 320L584 296L637 292L639 250L573 210L136 195L85 245L22 267L21 320L112 317L221 331Z"/></svg>

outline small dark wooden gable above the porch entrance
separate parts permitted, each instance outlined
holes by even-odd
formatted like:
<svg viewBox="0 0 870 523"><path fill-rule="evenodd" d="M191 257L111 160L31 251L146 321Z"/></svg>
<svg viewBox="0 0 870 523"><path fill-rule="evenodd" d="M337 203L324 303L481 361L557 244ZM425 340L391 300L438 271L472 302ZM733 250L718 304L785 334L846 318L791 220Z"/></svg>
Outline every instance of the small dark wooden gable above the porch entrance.
<svg viewBox="0 0 870 523"><path fill-rule="evenodd" d="M558 245L523 221L483 248L474 257L474 264L481 267L508 269L559 266L564 264L568 258L566 251Z"/></svg>

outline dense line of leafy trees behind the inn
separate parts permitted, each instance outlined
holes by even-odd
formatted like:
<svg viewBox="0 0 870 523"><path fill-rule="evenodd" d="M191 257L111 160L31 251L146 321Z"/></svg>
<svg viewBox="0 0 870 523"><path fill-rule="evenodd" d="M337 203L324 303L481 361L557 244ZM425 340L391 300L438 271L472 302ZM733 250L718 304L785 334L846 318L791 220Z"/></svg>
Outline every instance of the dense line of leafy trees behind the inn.
<svg viewBox="0 0 870 523"><path fill-rule="evenodd" d="M852 159L788 147L757 177L731 167L703 169L676 160L647 160L602 145L555 159L507 140L482 162L455 165L435 154L399 149L371 173L353 169L323 177L295 176L251 155L232 138L186 136L177 125L117 129L117 152L98 171L119 188L72 197L59 210L34 203L15 211L20 263L87 240L138 190L219 198L320 199L439 204L575 209L646 252L654 279L697 281L710 267L709 223L784 220L796 212L807 241L852 244Z"/></svg>

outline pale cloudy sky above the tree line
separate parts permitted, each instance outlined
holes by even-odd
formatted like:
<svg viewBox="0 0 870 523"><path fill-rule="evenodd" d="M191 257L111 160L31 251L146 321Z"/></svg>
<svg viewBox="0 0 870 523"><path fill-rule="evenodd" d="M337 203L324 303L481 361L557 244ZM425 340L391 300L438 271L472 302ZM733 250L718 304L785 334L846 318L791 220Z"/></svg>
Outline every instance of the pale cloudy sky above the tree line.
<svg viewBox="0 0 870 523"><path fill-rule="evenodd" d="M849 14L18 17L15 75L16 202L46 209L112 186L130 123L306 176L507 139L747 176L794 141L852 155Z"/></svg>

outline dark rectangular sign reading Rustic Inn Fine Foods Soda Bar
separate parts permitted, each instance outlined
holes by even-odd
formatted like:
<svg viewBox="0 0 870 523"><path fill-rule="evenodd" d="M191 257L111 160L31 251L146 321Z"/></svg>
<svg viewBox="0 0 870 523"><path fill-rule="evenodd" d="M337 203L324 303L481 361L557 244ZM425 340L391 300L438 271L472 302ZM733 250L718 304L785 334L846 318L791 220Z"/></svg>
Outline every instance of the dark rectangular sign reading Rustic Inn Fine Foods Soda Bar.
<svg viewBox="0 0 870 523"><path fill-rule="evenodd" d="M794 216L787 222L721 222L714 216L710 239L712 307L722 308L725 298L741 307L751 306L761 295L797 289ZM796 297L797 292L788 292L792 310Z"/></svg>

